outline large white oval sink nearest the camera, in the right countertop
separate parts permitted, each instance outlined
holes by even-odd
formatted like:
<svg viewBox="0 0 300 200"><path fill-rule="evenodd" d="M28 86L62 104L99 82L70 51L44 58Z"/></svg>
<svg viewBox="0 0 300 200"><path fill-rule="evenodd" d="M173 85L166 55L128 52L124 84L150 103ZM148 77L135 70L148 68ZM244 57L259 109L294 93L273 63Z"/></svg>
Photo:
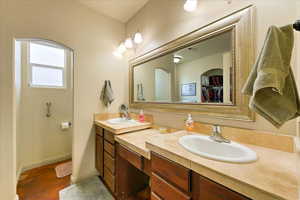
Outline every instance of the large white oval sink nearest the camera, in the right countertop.
<svg viewBox="0 0 300 200"><path fill-rule="evenodd" d="M208 136L186 135L179 139L179 144L188 151L213 160L247 163L257 160L256 153L236 142L219 143Z"/></svg>

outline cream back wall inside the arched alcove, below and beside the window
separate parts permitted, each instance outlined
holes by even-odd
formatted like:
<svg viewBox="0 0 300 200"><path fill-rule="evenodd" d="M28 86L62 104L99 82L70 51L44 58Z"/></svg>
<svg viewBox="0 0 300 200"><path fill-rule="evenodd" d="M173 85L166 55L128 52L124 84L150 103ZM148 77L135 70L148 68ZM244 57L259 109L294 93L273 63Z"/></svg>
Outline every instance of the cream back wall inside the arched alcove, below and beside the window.
<svg viewBox="0 0 300 200"><path fill-rule="evenodd" d="M28 41L22 41L22 77L21 83L16 82L16 85L21 84L21 96L17 98L20 99L17 101L17 173L71 158L72 153L72 129L60 129L61 122L73 119L72 52L65 49L66 88L37 88L29 86L28 46ZM49 118L46 102L52 103Z"/></svg>

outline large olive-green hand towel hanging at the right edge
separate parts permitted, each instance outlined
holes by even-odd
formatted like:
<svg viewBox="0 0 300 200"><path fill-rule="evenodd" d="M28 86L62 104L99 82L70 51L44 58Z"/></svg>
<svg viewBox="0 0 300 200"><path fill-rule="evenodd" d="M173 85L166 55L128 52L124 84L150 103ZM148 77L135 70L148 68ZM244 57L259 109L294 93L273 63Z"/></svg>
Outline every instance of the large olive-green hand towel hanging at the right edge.
<svg viewBox="0 0 300 200"><path fill-rule="evenodd" d="M249 107L279 128L300 115L300 102L290 62L294 46L291 25L269 28L262 51L243 94L251 95Z"/></svg>

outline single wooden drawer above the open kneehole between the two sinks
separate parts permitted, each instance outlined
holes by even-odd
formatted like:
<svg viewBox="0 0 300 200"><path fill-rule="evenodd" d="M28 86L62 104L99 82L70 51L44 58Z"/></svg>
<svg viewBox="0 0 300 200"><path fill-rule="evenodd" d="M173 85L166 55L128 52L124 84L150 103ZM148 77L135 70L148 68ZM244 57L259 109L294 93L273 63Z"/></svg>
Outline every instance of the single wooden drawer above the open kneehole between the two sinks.
<svg viewBox="0 0 300 200"><path fill-rule="evenodd" d="M136 168L142 170L143 157L118 144L118 154Z"/></svg>

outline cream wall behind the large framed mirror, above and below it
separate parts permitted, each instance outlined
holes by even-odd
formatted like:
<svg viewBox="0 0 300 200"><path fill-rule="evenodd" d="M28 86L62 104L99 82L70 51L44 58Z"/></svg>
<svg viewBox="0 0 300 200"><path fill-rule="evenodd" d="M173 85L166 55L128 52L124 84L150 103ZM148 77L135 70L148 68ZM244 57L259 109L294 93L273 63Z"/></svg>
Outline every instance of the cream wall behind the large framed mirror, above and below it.
<svg viewBox="0 0 300 200"><path fill-rule="evenodd" d="M136 30L139 30L144 36L144 42L139 45L133 56L142 55L251 4L256 7L256 53L258 54L270 25L283 26L294 23L297 19L296 0L234 0L232 4L227 4L227 1L224 0L201 0L199 1L199 8L193 13L185 12L183 4L184 1L182 0L150 0L126 24L128 36L133 35ZM296 67L295 62L292 65ZM149 113L154 114L156 123L178 128L182 127L186 118L186 114L181 113ZM257 116L256 122L216 120L201 116L194 116L194 118L202 122L296 135L296 120L286 123L281 129L276 129L260 116Z"/></svg>

